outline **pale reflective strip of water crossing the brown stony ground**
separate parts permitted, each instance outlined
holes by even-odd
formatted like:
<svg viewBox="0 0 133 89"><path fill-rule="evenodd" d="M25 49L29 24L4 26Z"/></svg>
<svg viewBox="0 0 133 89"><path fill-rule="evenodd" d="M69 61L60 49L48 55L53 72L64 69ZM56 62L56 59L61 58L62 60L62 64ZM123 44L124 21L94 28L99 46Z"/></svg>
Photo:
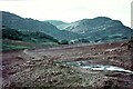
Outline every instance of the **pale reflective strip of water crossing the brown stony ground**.
<svg viewBox="0 0 133 89"><path fill-rule="evenodd" d="M121 67L116 66L105 66L105 65L90 65L88 61L62 61L60 62L63 66L71 66L71 67L81 67L83 69L91 69L98 71L119 71L133 75L133 71L126 70Z"/></svg>

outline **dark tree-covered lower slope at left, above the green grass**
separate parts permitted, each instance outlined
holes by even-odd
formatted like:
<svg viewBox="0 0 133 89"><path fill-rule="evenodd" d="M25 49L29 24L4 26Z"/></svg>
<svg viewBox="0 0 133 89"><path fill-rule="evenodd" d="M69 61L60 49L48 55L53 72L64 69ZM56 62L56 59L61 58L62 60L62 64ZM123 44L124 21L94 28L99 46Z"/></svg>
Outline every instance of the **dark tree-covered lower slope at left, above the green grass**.
<svg viewBox="0 0 133 89"><path fill-rule="evenodd" d="M2 39L27 41L27 42L58 42L57 39L43 32L18 31L2 26Z"/></svg>

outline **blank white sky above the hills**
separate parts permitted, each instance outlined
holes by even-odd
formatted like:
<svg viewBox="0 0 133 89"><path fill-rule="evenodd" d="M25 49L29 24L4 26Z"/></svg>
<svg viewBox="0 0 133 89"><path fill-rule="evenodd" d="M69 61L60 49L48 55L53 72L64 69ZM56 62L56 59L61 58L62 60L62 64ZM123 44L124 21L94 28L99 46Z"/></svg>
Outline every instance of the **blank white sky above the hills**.
<svg viewBox="0 0 133 89"><path fill-rule="evenodd" d="M110 17L131 27L132 0L0 0L0 10L38 20L73 22Z"/></svg>

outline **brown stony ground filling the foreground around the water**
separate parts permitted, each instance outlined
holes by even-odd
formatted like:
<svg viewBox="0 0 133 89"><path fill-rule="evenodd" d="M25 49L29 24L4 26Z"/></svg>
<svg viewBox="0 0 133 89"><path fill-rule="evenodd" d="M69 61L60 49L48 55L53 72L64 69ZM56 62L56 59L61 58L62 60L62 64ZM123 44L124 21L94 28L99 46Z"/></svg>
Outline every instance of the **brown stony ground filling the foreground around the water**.
<svg viewBox="0 0 133 89"><path fill-rule="evenodd" d="M3 88L88 87L90 89L133 89L133 75L95 71L62 65L113 65L132 70L132 42L65 46L49 49L3 52Z"/></svg>

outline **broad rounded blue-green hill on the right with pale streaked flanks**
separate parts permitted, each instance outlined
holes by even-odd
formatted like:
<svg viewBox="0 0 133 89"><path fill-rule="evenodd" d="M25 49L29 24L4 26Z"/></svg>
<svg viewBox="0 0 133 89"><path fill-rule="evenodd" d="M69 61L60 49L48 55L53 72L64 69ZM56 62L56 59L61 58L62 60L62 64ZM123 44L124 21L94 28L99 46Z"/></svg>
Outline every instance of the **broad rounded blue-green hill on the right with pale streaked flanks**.
<svg viewBox="0 0 133 89"><path fill-rule="evenodd" d="M131 28L123 26L119 20L112 20L106 17L83 19L72 23L65 23L60 27L60 29L82 34L84 37L83 40L95 42L124 40L133 36ZM76 39L76 41L78 40L79 39Z"/></svg>

